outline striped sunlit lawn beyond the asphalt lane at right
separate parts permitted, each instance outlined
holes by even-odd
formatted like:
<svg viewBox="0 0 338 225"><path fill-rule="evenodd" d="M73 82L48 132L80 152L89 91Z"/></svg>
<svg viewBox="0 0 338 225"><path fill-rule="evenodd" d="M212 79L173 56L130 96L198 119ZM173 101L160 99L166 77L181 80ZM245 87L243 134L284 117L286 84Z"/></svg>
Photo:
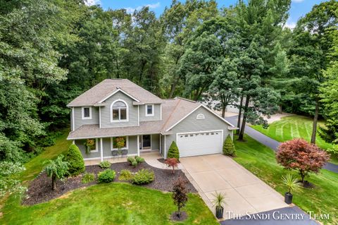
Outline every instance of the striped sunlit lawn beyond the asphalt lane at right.
<svg viewBox="0 0 338 225"><path fill-rule="evenodd" d="M323 122L319 122L318 125L323 125ZM273 138L279 142L292 140L294 138L304 138L305 140L311 140L313 119L306 116L285 116L280 121L275 121L269 124L267 129L264 129L261 125L251 126L255 130ZM325 142L319 135L316 136L316 144L327 149L332 147L331 144ZM331 162L338 164L337 155L331 157Z"/></svg>

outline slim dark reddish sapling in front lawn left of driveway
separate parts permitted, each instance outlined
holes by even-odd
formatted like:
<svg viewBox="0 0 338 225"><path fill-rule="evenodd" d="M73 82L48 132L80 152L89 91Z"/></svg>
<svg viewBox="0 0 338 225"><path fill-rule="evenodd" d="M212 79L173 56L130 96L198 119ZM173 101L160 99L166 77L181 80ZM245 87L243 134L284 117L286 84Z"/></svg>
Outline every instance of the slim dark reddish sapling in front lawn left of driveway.
<svg viewBox="0 0 338 225"><path fill-rule="evenodd" d="M187 204L188 195L187 195L187 181L184 181L181 177L175 181L173 186L173 200L174 204L177 206L177 218L181 217L181 209Z"/></svg>

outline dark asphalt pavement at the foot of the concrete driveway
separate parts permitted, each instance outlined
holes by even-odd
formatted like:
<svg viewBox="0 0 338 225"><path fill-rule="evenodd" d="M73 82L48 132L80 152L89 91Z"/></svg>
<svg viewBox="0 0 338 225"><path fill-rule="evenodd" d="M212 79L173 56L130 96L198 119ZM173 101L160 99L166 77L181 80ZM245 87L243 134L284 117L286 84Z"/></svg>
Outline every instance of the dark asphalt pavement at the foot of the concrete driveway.
<svg viewBox="0 0 338 225"><path fill-rule="evenodd" d="M312 216L313 217L313 216ZM268 212L245 215L237 219L227 219L221 225L319 225L299 207L284 207Z"/></svg>

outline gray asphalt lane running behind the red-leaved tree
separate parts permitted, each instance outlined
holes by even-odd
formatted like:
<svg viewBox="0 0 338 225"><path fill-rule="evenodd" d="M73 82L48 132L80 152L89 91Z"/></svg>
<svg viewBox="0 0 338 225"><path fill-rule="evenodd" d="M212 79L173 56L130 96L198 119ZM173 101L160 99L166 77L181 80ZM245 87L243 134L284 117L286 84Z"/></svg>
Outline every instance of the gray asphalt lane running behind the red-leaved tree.
<svg viewBox="0 0 338 225"><path fill-rule="evenodd" d="M230 116L226 118L227 121L232 123L233 125L237 124L237 116ZM257 140L258 142L261 142L263 145L266 145L273 149L274 151L277 151L278 146L280 145L280 142L277 142L277 140L273 140L272 138L269 138L267 135L263 135L263 133L249 127L245 126L244 132L249 135L251 138ZM324 169L327 169L329 171L332 171L334 173L338 174L338 165L332 164L328 162Z"/></svg>

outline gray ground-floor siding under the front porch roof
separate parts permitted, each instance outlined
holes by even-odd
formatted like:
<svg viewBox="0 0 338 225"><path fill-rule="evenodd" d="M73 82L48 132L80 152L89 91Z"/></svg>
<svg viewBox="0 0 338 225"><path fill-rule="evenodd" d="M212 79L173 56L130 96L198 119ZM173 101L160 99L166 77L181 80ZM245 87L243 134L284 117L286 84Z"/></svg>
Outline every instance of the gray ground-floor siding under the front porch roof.
<svg viewBox="0 0 338 225"><path fill-rule="evenodd" d="M84 159L101 158L100 138L97 138L98 152L90 152L87 154L84 142L86 142L86 140L75 140L75 145L79 147ZM104 150L104 158L111 157L111 138L102 138L102 147ZM137 154L137 136L128 137L128 154Z"/></svg>

